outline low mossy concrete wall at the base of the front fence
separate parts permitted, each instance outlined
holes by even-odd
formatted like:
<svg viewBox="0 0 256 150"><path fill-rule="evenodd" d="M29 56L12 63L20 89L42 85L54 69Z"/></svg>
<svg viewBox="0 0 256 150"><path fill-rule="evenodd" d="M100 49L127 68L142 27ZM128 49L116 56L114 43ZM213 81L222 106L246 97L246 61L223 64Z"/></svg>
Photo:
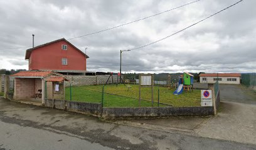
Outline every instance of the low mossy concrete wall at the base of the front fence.
<svg viewBox="0 0 256 150"><path fill-rule="evenodd" d="M156 116L209 116L214 115L214 107L181 108L102 108L101 104L76 101L45 100L45 106L78 113L93 114L103 118L156 117Z"/></svg>

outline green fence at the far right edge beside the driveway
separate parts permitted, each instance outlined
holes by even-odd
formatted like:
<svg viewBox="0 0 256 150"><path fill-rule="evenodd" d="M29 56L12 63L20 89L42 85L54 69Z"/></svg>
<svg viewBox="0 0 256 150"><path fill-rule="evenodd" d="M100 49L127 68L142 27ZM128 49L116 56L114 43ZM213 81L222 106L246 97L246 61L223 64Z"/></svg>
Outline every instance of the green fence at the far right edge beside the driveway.
<svg viewBox="0 0 256 150"><path fill-rule="evenodd" d="M242 74L242 84L256 90L256 73Z"/></svg>

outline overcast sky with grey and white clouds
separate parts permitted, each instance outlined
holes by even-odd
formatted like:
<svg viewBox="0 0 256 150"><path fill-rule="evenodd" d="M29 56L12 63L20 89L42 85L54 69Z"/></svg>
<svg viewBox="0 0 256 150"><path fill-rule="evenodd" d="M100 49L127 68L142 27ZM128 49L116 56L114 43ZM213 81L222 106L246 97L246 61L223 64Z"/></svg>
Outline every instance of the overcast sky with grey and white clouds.
<svg viewBox="0 0 256 150"><path fill-rule="evenodd" d="M32 34L38 46L118 26L192 1L1 0L0 69L28 69L24 57L26 49L32 47ZM201 0L68 41L84 52L87 47L87 71L119 72L120 50L169 36L237 1ZM244 0L163 41L123 52L122 73L255 73L255 6L255 0Z"/></svg>

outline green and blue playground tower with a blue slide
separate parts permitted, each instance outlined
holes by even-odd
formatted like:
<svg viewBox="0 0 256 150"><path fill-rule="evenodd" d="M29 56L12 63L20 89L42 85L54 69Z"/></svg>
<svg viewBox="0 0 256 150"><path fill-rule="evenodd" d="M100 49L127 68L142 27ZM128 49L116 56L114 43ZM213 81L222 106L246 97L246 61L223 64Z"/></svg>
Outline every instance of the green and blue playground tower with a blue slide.
<svg viewBox="0 0 256 150"><path fill-rule="evenodd" d="M183 93L184 90L189 91L191 89L193 91L193 81L194 81L194 76L189 73L184 73L179 77L179 85L176 91L174 91L174 95L178 95Z"/></svg>

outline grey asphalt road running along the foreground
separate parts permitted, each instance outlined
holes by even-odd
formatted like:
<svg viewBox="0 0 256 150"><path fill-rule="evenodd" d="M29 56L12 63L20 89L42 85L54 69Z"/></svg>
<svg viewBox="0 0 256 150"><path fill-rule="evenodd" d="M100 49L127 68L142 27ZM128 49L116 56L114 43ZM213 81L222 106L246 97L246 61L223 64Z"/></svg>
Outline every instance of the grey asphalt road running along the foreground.
<svg viewBox="0 0 256 150"><path fill-rule="evenodd" d="M0 98L0 149L256 149L253 144L106 123Z"/></svg>

